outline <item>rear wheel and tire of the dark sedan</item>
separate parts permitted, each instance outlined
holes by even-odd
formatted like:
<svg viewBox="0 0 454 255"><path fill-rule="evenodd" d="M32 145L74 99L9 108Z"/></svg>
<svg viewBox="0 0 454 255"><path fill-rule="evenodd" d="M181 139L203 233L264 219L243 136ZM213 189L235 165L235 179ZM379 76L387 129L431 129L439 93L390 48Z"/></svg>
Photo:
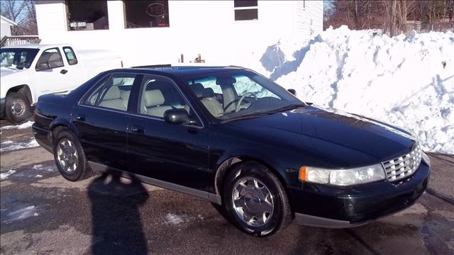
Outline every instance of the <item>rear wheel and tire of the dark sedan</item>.
<svg viewBox="0 0 454 255"><path fill-rule="evenodd" d="M68 181L82 181L93 175L79 140L70 130L55 135L53 153L58 171Z"/></svg>

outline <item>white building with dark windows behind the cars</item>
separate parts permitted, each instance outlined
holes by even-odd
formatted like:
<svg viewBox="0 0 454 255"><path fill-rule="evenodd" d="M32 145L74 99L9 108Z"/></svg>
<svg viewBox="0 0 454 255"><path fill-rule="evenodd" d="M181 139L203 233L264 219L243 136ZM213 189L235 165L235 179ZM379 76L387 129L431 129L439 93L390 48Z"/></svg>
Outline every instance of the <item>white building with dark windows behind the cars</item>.
<svg viewBox="0 0 454 255"><path fill-rule="evenodd" d="M36 18L41 43L114 50L126 67L199 54L242 64L281 38L321 32L323 1L36 1Z"/></svg>

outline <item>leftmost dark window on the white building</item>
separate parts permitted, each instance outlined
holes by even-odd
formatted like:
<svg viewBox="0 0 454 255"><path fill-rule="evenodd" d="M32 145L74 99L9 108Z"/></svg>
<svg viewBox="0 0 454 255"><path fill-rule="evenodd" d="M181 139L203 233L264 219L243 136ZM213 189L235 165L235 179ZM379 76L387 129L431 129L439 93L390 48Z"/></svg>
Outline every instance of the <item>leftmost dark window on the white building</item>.
<svg viewBox="0 0 454 255"><path fill-rule="evenodd" d="M68 30L109 29L107 1L65 1Z"/></svg>

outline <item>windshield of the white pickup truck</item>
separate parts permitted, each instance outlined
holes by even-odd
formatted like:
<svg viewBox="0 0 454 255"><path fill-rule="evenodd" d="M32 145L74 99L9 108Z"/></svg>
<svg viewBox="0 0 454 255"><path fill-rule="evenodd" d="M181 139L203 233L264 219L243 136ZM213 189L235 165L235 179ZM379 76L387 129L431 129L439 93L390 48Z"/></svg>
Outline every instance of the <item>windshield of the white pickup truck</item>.
<svg viewBox="0 0 454 255"><path fill-rule="evenodd" d="M11 69L30 68L38 49L10 48L0 50L0 67Z"/></svg>

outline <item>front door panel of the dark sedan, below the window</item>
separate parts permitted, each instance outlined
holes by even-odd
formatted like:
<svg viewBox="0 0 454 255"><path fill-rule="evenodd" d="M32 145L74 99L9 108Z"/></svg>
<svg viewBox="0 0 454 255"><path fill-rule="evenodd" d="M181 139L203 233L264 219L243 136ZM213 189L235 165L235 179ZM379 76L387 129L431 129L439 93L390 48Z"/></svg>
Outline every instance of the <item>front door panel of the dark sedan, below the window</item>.
<svg viewBox="0 0 454 255"><path fill-rule="evenodd" d="M131 115L128 157L131 171L161 181L214 192L209 186L208 131ZM141 132L133 132L138 128Z"/></svg>

